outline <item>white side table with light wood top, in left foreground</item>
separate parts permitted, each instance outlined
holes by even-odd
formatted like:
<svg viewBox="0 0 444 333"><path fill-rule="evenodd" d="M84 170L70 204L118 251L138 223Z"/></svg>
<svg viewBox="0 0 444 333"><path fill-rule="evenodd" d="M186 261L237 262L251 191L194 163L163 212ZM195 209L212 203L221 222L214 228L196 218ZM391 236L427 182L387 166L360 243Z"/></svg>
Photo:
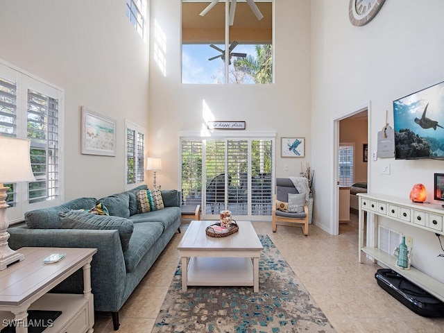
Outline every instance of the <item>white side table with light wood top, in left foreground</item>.
<svg viewBox="0 0 444 333"><path fill-rule="evenodd" d="M62 314L45 333L92 333L91 261L96 248L20 248L17 251L25 259L0 271L0 328L14 320L16 332L27 333L28 309L57 310ZM65 253L66 257L54 264L44 264L43 259L52 253ZM83 268L83 294L48 293L80 268Z"/></svg>

